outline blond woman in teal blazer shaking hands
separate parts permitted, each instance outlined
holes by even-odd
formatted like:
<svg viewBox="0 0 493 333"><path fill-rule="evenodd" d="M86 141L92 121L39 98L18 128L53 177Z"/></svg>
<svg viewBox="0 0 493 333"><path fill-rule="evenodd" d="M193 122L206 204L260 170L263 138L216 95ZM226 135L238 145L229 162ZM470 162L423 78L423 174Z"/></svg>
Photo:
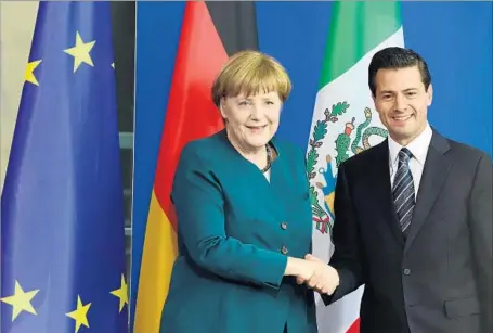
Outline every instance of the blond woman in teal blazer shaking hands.
<svg viewBox="0 0 493 333"><path fill-rule="evenodd" d="M230 59L212 87L225 129L181 153L171 198L179 256L161 333L313 333L304 156L275 138L290 92L285 69L254 51Z"/></svg>

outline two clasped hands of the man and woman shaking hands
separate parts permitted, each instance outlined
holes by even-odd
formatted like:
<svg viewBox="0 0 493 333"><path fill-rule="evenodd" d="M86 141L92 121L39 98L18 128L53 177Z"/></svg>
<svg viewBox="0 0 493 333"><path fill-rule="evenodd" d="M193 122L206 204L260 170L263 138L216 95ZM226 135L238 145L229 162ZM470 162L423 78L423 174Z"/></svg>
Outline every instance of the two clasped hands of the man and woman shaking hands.
<svg viewBox="0 0 493 333"><path fill-rule="evenodd" d="M320 294L332 295L339 285L337 270L310 254L304 259L288 257L285 276L296 277L298 284L307 284Z"/></svg>

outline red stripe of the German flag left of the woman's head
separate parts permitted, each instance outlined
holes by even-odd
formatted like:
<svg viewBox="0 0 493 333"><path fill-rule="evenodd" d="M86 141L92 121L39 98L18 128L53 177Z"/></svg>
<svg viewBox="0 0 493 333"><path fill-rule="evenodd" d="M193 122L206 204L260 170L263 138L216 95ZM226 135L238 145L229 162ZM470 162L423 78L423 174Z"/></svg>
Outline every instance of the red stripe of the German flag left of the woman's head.
<svg viewBox="0 0 493 333"><path fill-rule="evenodd" d="M170 191L178 159L190 140L223 127L210 88L228 54L205 2L186 2L154 189L161 208L177 230Z"/></svg>

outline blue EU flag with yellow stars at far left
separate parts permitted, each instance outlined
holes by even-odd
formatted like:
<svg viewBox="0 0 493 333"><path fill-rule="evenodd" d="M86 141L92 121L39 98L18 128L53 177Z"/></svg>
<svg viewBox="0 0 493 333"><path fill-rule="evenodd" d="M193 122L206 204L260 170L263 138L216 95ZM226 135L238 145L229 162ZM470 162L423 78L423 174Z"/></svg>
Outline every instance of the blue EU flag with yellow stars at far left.
<svg viewBox="0 0 493 333"><path fill-rule="evenodd" d="M1 200L1 332L128 332L108 2L39 2Z"/></svg>

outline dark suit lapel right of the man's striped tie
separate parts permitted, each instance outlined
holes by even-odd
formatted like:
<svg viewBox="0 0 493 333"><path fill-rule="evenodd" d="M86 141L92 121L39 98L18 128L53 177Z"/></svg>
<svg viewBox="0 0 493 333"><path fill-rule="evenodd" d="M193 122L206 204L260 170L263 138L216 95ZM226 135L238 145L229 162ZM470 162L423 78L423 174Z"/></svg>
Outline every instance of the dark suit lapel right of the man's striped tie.
<svg viewBox="0 0 493 333"><path fill-rule="evenodd" d="M428 214L443 188L452 166L452 162L445 155L449 150L450 145L447 140L433 130L425 162L425 168L419 182L416 206L414 207L404 253L413 244L413 241L416 239L419 229L425 223Z"/></svg>

